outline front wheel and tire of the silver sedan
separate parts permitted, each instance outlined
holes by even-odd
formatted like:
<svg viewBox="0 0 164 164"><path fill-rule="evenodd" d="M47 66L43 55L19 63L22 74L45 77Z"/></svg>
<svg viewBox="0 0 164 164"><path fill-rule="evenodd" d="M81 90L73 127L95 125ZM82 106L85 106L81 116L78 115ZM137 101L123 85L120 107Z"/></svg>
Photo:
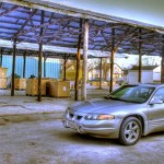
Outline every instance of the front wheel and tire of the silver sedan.
<svg viewBox="0 0 164 164"><path fill-rule="evenodd" d="M128 117L120 126L119 141L124 145L133 145L141 138L141 121L136 117Z"/></svg>

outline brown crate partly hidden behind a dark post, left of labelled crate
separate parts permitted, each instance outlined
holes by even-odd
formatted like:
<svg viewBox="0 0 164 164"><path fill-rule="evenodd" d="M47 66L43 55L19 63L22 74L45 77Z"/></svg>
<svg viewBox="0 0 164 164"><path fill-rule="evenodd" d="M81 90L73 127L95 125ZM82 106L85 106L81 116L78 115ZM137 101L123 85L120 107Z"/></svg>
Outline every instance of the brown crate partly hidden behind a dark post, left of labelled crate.
<svg viewBox="0 0 164 164"><path fill-rule="evenodd" d="M46 83L49 79L42 79L42 95L46 95ZM26 80L26 95L35 96L38 95L38 79Z"/></svg>

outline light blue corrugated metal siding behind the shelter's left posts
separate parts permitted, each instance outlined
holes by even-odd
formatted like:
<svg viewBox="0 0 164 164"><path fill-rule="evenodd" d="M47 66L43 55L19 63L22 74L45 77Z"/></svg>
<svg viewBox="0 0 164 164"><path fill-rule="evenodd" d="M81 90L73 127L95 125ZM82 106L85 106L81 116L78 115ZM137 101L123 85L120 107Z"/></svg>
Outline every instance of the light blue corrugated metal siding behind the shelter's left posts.
<svg viewBox="0 0 164 164"><path fill-rule="evenodd" d="M4 56L2 60L2 67L8 68L7 75L10 77L12 73L12 56ZM59 59L48 58L46 60L46 78L59 79L61 63ZM15 61L15 73L23 78L23 57L16 57ZM37 77L38 74L38 58L26 57L26 77L30 78L32 74ZM43 62L43 77L44 77L44 62Z"/></svg>

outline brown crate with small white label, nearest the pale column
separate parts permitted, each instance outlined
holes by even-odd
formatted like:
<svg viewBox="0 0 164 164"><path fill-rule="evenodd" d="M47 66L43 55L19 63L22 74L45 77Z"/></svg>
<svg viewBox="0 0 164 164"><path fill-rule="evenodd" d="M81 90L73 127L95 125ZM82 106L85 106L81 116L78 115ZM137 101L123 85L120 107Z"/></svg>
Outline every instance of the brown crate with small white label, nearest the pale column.
<svg viewBox="0 0 164 164"><path fill-rule="evenodd" d="M50 81L49 96L70 97L70 81Z"/></svg>

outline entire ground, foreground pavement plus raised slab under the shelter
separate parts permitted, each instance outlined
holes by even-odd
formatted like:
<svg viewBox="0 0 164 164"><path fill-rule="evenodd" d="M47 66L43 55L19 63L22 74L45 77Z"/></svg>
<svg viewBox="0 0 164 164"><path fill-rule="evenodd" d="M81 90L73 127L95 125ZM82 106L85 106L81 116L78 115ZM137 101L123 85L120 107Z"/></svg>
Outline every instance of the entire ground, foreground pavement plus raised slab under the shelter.
<svg viewBox="0 0 164 164"><path fill-rule="evenodd" d="M108 90L89 90L87 98ZM144 137L132 147L117 140L82 136L63 128L61 116L71 97L25 96L0 91L0 164L163 164L164 134Z"/></svg>

